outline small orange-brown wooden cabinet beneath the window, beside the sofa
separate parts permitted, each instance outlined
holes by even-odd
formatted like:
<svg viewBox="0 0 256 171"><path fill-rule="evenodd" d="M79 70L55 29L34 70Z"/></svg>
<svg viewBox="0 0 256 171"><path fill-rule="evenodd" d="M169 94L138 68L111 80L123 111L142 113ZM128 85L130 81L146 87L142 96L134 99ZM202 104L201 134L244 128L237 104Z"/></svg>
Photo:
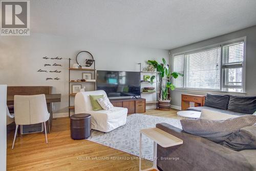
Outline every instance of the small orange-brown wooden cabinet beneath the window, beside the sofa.
<svg viewBox="0 0 256 171"><path fill-rule="evenodd" d="M205 96L196 94L181 94L181 110L189 108L189 102L194 102L195 107L204 106Z"/></svg>

